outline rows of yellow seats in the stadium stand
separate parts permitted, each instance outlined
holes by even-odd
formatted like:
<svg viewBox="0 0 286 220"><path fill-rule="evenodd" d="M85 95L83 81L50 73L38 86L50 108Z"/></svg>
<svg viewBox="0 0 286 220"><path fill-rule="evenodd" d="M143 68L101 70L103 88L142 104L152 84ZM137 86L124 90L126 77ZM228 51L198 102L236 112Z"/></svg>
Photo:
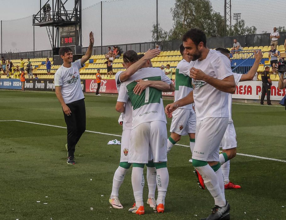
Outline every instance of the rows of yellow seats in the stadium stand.
<svg viewBox="0 0 286 220"><path fill-rule="evenodd" d="M215 49L215 48L214 48ZM231 48L227 48L230 50ZM284 53L285 48L283 45L279 45L277 47L279 53ZM270 58L268 58L268 51L270 50L270 46L260 46L260 47L244 47L243 51L241 53L234 53L232 60L241 60L243 62L244 60L250 58L251 50L261 50L263 52L263 58L261 60L261 64L257 70L258 72L258 80L261 80L261 72L264 71L265 66L270 65ZM138 53L138 54L144 54L144 53ZM151 59L153 67L160 67L161 65L166 66L167 64L170 64L170 67L173 70L173 76L172 79L175 80L175 70L179 63L179 61L182 59L182 56L179 51L161 51L159 56ZM53 64L52 58L49 58L51 63ZM27 60L24 60L27 62ZM60 65L52 65L51 67L51 75L47 75L46 70L46 58L34 58L30 59L33 66L33 74L37 74L39 79L53 79L54 74L57 71L57 69L60 67ZM106 61L105 55L92 55L91 59L88 60L84 67L80 69L80 78L81 79L95 79L95 73L97 69L100 69L100 73L102 74L102 79L107 79L107 69L106 64L104 62ZM20 65L20 59L12 60L14 66ZM113 62L113 73L116 74L118 71L124 71L124 67L122 66L123 59L122 54L121 57L114 59ZM270 68L270 73L272 71L272 68ZM26 71L25 71L26 73ZM6 78L6 75L2 75L1 78ZM114 79L114 76L109 79ZM279 77L278 75L271 75L272 81L278 81Z"/></svg>

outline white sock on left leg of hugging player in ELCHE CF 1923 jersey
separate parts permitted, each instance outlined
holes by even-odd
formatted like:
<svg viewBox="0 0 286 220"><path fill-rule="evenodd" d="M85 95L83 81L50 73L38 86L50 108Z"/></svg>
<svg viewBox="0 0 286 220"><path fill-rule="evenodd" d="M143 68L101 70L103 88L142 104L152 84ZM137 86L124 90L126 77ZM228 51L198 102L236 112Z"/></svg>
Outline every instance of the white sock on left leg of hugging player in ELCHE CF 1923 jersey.
<svg viewBox="0 0 286 220"><path fill-rule="evenodd" d="M144 175L143 168L133 167L131 174L132 188L136 207L143 206Z"/></svg>

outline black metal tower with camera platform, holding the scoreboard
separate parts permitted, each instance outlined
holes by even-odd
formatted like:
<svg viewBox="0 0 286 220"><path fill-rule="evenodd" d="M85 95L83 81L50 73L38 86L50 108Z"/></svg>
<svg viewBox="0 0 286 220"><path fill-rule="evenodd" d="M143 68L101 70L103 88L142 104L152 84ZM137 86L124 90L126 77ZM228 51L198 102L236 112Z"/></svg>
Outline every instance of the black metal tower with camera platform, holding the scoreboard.
<svg viewBox="0 0 286 220"><path fill-rule="evenodd" d="M46 27L53 50L54 64L62 64L60 47L71 47L74 59L82 56L81 0L73 0L74 8L67 10L69 0L40 0L40 11L33 15L33 26ZM72 0L70 0L72 1Z"/></svg>

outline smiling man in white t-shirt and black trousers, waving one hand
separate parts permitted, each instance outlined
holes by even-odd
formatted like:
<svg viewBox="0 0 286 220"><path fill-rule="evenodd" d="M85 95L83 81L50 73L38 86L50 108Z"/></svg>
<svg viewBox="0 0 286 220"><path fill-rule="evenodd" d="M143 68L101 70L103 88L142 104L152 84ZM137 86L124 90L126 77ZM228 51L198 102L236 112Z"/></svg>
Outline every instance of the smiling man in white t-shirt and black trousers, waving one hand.
<svg viewBox="0 0 286 220"><path fill-rule="evenodd" d="M56 96L63 108L64 120L67 124L68 164L75 164L75 145L85 132L85 101L81 90L80 68L91 57L94 37L92 31L89 34L89 47L85 55L73 63L73 52L69 47L61 47L59 55L63 59L63 65L54 76Z"/></svg>

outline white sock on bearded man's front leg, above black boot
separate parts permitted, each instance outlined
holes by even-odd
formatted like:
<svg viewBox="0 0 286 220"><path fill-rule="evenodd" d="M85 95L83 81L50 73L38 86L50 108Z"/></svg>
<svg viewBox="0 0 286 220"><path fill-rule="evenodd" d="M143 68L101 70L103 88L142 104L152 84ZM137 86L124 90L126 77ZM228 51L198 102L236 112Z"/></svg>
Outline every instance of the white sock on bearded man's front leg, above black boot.
<svg viewBox="0 0 286 220"><path fill-rule="evenodd" d="M206 165L203 167L195 167L199 173L201 173L202 178L204 179L204 183L206 188L211 193L212 197L214 198L215 205L217 206L225 206L226 201L224 196L222 195L217 175L213 171L210 165Z"/></svg>

